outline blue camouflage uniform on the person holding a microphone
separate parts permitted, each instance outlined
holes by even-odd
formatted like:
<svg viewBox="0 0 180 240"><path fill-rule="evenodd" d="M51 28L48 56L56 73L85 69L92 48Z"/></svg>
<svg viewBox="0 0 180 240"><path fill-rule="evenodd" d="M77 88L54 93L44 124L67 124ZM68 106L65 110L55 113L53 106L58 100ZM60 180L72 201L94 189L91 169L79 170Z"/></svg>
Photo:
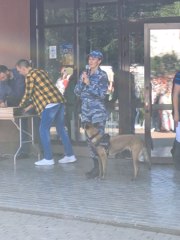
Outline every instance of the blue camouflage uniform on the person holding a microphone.
<svg viewBox="0 0 180 240"><path fill-rule="evenodd" d="M107 111L104 99L108 89L108 77L106 72L100 68L89 75L90 84L83 83L82 75L76 84L75 94L80 97L81 105L81 122L96 124L101 134L104 134ZM91 149L91 157L94 158L96 153Z"/></svg>

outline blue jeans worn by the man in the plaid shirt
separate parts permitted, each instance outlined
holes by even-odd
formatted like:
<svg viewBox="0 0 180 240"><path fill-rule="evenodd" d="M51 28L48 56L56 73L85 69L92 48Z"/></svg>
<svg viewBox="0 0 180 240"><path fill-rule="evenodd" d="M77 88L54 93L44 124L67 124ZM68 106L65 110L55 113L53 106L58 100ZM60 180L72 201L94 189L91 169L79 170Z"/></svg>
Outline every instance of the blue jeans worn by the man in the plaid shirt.
<svg viewBox="0 0 180 240"><path fill-rule="evenodd" d="M65 155L74 155L72 144L64 125L64 104L59 103L54 107L45 108L41 115L39 133L44 152L44 158L47 160L53 159L50 138L50 128L53 123L55 123L58 137L61 139L64 146Z"/></svg>

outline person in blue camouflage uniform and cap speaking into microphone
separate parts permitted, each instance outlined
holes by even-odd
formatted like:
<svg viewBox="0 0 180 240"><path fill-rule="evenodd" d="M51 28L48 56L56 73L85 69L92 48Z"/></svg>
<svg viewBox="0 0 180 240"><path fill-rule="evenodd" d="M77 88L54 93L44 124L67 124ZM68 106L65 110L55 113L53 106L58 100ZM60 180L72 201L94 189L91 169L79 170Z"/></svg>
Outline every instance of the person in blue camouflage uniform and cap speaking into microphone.
<svg viewBox="0 0 180 240"><path fill-rule="evenodd" d="M88 55L88 69L84 71L75 86L75 94L80 97L81 122L83 125L92 123L96 125L100 134L104 134L107 111L105 96L108 90L108 76L100 69L103 55L100 51L92 51ZM88 178L94 178L99 174L98 156L90 140L87 138L94 168L86 174Z"/></svg>

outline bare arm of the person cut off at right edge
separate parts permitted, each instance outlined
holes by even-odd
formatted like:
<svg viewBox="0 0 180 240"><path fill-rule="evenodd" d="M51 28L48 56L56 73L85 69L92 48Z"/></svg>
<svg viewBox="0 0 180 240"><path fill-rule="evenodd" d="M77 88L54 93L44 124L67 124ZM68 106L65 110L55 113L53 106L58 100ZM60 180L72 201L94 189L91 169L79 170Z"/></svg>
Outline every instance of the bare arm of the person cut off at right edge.
<svg viewBox="0 0 180 240"><path fill-rule="evenodd" d="M179 107L178 106L178 99L180 96L180 85L179 84L175 84L174 85L174 89L173 89L173 108L174 108L174 122L175 122L175 127L177 127L178 122L180 121L179 119Z"/></svg>

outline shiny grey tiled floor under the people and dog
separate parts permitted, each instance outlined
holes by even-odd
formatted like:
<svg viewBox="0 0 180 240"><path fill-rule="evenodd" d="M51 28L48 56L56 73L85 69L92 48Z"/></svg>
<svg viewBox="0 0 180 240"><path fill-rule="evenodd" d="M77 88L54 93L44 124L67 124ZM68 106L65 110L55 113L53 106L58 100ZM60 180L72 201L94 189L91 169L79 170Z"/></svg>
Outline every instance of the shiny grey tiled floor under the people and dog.
<svg viewBox="0 0 180 240"><path fill-rule="evenodd" d="M180 172L173 165L109 159L105 180L87 180L88 157L35 167L35 159L0 160L0 207L180 234Z"/></svg>

